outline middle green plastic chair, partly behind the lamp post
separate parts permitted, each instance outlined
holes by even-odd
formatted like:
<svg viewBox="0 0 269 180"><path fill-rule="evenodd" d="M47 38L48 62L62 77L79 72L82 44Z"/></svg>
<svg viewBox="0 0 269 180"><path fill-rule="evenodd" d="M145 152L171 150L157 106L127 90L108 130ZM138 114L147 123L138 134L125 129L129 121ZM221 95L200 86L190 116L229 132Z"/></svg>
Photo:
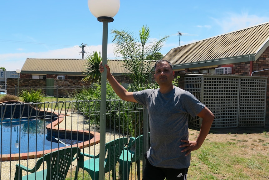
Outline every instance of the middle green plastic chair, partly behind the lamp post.
<svg viewBox="0 0 269 180"><path fill-rule="evenodd" d="M113 141L110 141L105 144L105 153L107 156L105 158L104 168L105 172L112 171L113 180L116 179L116 163L119 161L120 154L123 147L128 143L128 138L123 137ZM84 156L90 157L89 160L84 161ZM98 180L99 178L99 154L96 156L81 153L78 158L76 171L78 172L79 168L86 170L92 180ZM77 172L74 180L77 180Z"/></svg>

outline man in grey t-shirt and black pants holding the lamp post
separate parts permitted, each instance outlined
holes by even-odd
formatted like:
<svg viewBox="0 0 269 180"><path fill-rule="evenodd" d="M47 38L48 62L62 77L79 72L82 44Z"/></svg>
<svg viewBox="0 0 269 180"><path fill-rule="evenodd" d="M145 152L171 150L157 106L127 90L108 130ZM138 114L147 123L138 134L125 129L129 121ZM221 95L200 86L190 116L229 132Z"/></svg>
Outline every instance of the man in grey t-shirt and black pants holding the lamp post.
<svg viewBox="0 0 269 180"><path fill-rule="evenodd" d="M147 152L143 180L186 180L190 166L190 152L203 144L214 115L190 92L172 84L175 72L166 60L155 63L158 89L128 92L107 68L107 80L123 100L138 102L147 107L151 147ZM100 72L104 72L102 62ZM203 119L196 141L188 140L188 115Z"/></svg>

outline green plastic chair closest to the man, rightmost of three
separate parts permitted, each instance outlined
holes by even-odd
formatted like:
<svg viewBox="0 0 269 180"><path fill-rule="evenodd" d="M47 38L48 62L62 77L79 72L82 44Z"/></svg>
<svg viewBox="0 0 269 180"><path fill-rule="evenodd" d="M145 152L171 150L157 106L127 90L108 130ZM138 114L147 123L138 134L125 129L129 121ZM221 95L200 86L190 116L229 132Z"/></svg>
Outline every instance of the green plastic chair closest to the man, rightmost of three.
<svg viewBox="0 0 269 180"><path fill-rule="evenodd" d="M148 134L149 137L149 134ZM120 180L129 180L131 163L136 162L137 176L140 179L140 157L143 155L143 135L130 137L127 147L124 147L119 158Z"/></svg>

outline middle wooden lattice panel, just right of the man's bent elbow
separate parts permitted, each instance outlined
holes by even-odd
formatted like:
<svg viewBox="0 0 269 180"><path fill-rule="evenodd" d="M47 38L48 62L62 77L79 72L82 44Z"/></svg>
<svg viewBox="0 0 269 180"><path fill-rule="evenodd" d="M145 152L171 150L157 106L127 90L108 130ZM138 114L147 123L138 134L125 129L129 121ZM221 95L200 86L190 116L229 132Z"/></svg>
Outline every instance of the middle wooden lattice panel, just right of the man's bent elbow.
<svg viewBox="0 0 269 180"><path fill-rule="evenodd" d="M212 128L237 127L239 78L203 76L202 102L215 115Z"/></svg>

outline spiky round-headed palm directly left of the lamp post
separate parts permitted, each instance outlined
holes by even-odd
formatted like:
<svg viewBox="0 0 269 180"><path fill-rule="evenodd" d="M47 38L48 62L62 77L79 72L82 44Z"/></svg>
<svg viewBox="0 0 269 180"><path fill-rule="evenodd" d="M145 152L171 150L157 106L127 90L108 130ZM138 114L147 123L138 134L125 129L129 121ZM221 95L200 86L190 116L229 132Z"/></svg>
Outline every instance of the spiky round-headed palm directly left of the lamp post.
<svg viewBox="0 0 269 180"><path fill-rule="evenodd" d="M101 83L101 73L99 71L99 64L102 61L101 53L94 51L92 54L87 55L86 60L86 69L83 73L86 76L82 81L87 82L90 80L90 83Z"/></svg>

